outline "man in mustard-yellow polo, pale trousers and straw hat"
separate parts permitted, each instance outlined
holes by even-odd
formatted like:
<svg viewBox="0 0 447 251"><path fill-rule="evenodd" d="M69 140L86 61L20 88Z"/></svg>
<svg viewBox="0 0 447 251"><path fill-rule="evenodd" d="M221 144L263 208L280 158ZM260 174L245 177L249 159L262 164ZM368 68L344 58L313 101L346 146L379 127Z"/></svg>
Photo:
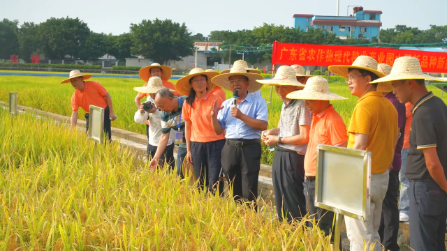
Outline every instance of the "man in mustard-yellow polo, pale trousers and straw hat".
<svg viewBox="0 0 447 251"><path fill-rule="evenodd" d="M332 73L346 77L349 90L359 98L349 123L348 148L371 151L370 209L366 222L345 217L346 233L352 251L381 250L378 233L383 199L388 189L389 171L399 136L397 112L393 104L370 84L385 76L377 70L377 61L370 56L358 56L352 66L329 66ZM381 85L389 85L383 83Z"/></svg>

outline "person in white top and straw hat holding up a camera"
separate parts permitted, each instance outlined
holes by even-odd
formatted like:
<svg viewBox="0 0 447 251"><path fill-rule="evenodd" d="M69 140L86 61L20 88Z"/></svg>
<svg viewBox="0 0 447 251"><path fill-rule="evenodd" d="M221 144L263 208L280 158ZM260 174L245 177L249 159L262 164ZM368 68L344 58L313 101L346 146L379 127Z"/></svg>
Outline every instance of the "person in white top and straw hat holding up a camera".
<svg viewBox="0 0 447 251"><path fill-rule="evenodd" d="M138 93L148 94L146 103L152 104L152 109L145 110L145 104L140 105L140 109L135 112L133 119L135 123L145 123L149 121L149 138L147 139L146 157L154 158L159 140L161 137L161 111L155 106L155 93L163 88L163 82L160 77L151 77L146 86L135 87L134 90ZM173 130L170 131L170 137L166 149L163 151L159 159L159 166L163 167L166 163L170 170L174 169L174 144L173 144Z"/></svg>

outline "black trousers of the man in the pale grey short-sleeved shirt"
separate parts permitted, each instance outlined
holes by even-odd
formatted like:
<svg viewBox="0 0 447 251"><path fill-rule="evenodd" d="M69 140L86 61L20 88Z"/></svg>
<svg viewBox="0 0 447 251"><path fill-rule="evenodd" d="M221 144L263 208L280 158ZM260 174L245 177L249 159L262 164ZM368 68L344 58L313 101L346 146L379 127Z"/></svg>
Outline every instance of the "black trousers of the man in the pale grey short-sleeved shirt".
<svg viewBox="0 0 447 251"><path fill-rule="evenodd" d="M279 221L300 220L306 215L305 156L277 148L272 165L272 182Z"/></svg>

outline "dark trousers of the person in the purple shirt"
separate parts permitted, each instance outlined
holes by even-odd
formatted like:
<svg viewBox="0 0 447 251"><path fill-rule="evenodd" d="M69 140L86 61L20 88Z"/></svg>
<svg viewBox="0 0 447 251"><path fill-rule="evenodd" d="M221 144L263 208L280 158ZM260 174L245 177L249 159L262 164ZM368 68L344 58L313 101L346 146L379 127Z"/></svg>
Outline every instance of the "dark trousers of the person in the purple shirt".
<svg viewBox="0 0 447 251"><path fill-rule="evenodd" d="M399 196L399 171L390 172L388 190L382 204L382 218L380 220L379 236L386 250L400 250L397 245L397 234L399 234L399 207L397 197Z"/></svg>

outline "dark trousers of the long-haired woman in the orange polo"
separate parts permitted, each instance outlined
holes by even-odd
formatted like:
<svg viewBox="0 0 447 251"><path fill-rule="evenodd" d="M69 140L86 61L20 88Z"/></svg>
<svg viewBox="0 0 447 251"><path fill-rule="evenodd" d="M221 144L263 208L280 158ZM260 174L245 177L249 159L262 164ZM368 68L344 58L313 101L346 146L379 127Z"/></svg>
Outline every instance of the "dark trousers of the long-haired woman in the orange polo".
<svg viewBox="0 0 447 251"><path fill-rule="evenodd" d="M222 168L223 145L225 145L225 139L206 143L191 142L191 157L199 188L206 187L208 191L214 192L219 185L219 195L223 192L223 183L218 184Z"/></svg>

